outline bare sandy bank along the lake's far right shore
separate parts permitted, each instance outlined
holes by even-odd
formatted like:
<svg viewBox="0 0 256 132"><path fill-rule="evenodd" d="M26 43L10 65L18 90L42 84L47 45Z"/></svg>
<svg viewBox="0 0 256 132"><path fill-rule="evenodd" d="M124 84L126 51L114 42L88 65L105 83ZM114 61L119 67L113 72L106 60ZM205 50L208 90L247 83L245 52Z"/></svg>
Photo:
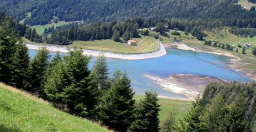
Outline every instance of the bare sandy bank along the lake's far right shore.
<svg viewBox="0 0 256 132"><path fill-rule="evenodd" d="M188 47L188 45L183 44L183 43L166 43L163 44L165 48L176 48L176 49L182 49L182 50L191 50L193 52L204 52L204 53L210 53L210 54L217 54L217 55L225 55L227 57L231 57L234 59L230 59L229 63L230 63L230 67L237 69L237 71L244 73L244 75L248 78L251 78L253 80L256 81L256 72L255 70L249 70L247 69L246 65L243 62L241 62L241 58L239 58L236 55L233 55L232 53L228 53L228 52L223 52L221 50L215 50L215 52L206 52L204 50L201 49L196 49L196 48L192 48L192 47Z"/></svg>

